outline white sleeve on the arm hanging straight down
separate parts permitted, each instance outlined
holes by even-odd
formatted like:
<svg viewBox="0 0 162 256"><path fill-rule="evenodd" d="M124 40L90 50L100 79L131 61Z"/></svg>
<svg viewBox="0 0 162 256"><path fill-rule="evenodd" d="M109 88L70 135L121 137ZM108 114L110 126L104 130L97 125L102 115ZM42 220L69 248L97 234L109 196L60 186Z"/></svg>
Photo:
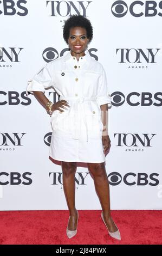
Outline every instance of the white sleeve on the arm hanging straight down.
<svg viewBox="0 0 162 256"><path fill-rule="evenodd" d="M109 93L108 84L107 84L107 77L105 70L102 67L102 73L99 78L99 87L98 87L98 94L96 95L96 101L98 105L108 104L108 107L111 107L111 95Z"/></svg>

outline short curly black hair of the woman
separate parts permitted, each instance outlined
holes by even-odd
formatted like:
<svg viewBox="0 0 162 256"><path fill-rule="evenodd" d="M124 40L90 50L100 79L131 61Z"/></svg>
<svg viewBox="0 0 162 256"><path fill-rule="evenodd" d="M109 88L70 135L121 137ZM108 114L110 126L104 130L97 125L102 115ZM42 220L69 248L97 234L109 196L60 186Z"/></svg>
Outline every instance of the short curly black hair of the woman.
<svg viewBox="0 0 162 256"><path fill-rule="evenodd" d="M70 28L73 27L82 27L85 28L87 31L87 38L89 39L88 44L92 41L93 39L93 27L90 23L90 21L82 16L82 15L72 15L70 16L63 25L63 38L68 44L68 39L69 39L69 33L70 33Z"/></svg>

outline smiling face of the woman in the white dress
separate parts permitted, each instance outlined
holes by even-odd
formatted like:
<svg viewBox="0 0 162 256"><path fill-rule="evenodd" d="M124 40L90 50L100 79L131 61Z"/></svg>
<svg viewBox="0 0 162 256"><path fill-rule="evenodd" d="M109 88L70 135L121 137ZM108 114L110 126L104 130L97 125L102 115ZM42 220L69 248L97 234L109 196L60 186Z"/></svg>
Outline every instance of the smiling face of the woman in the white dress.
<svg viewBox="0 0 162 256"><path fill-rule="evenodd" d="M81 27L70 28L68 44L72 52L77 54L84 52L88 44L86 29Z"/></svg>

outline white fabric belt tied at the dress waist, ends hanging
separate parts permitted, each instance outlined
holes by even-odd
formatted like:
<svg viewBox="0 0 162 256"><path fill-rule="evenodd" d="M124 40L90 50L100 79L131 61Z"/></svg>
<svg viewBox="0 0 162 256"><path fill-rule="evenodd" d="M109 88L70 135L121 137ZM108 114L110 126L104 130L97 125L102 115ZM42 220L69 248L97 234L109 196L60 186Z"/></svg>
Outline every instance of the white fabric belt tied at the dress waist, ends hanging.
<svg viewBox="0 0 162 256"><path fill-rule="evenodd" d="M82 113L83 113L83 121L85 123L85 126L86 126L86 138L87 138L87 142L88 142L88 127L87 127L87 118L86 118L86 113L85 113L85 108L83 106L83 103L87 100L93 100L95 101L96 98L95 97L79 97L79 98L76 98L76 97L63 97L63 96L60 96L60 100L72 100L72 101L76 101L78 104L76 104L76 107L77 107L77 111L75 111L75 118L77 119L79 117L78 115L78 106L80 104L80 107L82 109ZM73 139L79 139L79 136L76 135L75 131L74 131L74 135L73 135Z"/></svg>

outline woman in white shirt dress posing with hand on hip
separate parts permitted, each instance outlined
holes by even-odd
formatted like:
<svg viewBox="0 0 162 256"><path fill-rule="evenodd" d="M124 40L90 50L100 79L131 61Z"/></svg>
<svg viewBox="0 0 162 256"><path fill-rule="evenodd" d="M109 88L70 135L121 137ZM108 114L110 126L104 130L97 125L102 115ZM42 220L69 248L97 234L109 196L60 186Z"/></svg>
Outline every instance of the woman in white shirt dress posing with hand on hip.
<svg viewBox="0 0 162 256"><path fill-rule="evenodd" d="M75 172L77 162L86 162L93 175L108 233L120 240L120 232L111 218L109 183L105 169L105 153L109 148L108 106L111 97L103 66L90 57L87 46L93 28L82 15L69 17L63 26L63 38L69 52L51 61L28 82L28 92L51 115L53 133L50 157L61 161L63 189L69 209L67 236L77 233L79 214L75 208ZM60 100L50 102L44 89L54 87Z"/></svg>

